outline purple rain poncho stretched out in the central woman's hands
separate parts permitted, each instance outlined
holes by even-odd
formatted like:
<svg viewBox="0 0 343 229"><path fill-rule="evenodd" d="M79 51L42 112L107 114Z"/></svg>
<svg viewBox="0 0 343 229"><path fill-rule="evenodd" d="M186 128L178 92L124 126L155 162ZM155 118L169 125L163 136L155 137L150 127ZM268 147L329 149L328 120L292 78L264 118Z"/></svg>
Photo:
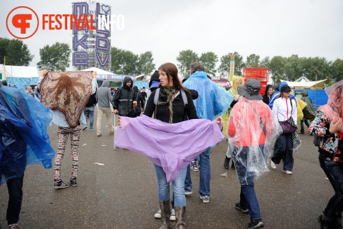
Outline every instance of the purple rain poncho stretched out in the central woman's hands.
<svg viewBox="0 0 343 229"><path fill-rule="evenodd" d="M193 119L169 124L139 116L121 117L122 129L115 132L115 146L144 154L165 171L167 182L178 177L204 149L224 139L222 125L215 120Z"/></svg>

